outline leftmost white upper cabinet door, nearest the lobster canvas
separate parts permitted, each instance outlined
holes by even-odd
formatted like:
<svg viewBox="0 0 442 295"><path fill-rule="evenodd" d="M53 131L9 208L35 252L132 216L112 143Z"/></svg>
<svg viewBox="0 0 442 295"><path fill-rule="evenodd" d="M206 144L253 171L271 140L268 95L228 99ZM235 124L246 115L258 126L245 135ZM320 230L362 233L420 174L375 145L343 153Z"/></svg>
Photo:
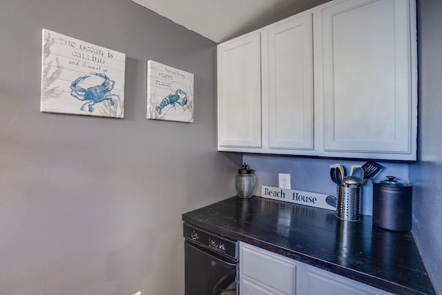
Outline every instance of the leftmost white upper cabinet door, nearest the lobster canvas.
<svg viewBox="0 0 442 295"><path fill-rule="evenodd" d="M261 147L260 32L218 45L218 149Z"/></svg>

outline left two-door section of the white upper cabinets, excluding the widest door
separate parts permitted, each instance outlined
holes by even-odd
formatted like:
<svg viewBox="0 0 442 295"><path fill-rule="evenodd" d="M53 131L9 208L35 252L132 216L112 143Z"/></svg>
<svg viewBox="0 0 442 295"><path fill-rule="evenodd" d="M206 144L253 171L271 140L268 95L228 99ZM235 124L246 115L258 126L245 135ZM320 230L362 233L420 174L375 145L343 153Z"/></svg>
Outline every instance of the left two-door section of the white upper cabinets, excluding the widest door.
<svg viewBox="0 0 442 295"><path fill-rule="evenodd" d="M218 150L313 152L311 30L309 13L218 45Z"/></svg>

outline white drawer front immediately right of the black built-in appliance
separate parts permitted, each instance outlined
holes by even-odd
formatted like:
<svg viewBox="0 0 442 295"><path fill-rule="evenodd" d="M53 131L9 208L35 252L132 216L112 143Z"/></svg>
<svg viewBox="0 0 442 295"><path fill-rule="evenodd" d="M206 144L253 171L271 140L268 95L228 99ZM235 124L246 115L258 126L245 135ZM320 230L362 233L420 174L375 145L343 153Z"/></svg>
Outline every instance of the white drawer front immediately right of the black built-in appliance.
<svg viewBox="0 0 442 295"><path fill-rule="evenodd" d="M243 245L240 261L242 275L253 278L283 294L294 294L296 265L283 256Z"/></svg>

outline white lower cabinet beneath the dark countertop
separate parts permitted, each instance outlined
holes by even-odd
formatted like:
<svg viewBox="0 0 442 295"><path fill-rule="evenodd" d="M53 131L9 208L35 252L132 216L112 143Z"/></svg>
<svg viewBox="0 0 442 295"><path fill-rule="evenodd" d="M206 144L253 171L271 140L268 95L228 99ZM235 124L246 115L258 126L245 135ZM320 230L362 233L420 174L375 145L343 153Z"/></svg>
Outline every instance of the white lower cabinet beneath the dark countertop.
<svg viewBox="0 0 442 295"><path fill-rule="evenodd" d="M240 295L383 295L381 289L240 242Z"/></svg>

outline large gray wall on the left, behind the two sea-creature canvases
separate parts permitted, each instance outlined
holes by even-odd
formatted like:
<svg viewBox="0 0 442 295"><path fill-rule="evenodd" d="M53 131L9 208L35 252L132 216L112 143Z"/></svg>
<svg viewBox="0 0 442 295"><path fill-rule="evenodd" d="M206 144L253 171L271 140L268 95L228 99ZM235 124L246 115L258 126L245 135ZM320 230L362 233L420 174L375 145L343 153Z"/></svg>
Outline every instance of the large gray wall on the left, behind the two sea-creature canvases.
<svg viewBox="0 0 442 295"><path fill-rule="evenodd" d="M125 119L39 112L41 29L126 53ZM184 294L181 214L234 194L215 43L129 0L0 0L0 294ZM195 122L146 120L146 60Z"/></svg>

